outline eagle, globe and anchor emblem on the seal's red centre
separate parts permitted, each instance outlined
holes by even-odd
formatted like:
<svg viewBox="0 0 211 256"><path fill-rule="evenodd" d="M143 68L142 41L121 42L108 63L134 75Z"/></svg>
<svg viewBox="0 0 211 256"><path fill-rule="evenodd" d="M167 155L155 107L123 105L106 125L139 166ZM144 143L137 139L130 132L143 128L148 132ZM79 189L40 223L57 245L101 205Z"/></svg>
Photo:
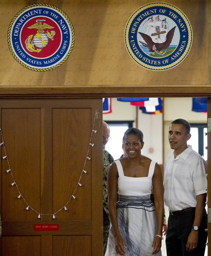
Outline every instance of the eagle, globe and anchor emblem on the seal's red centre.
<svg viewBox="0 0 211 256"><path fill-rule="evenodd" d="M35 35L29 35L27 39L25 39L25 46L29 52L38 53L48 45L49 39L51 39L52 41L54 40L53 37L56 34L54 30L51 30L51 32L49 32L48 30L46 31L46 33L44 32L44 29L52 29L54 27L46 23L43 23L42 25L42 21L45 20L36 20L37 23L27 27L29 29L38 29Z"/></svg>

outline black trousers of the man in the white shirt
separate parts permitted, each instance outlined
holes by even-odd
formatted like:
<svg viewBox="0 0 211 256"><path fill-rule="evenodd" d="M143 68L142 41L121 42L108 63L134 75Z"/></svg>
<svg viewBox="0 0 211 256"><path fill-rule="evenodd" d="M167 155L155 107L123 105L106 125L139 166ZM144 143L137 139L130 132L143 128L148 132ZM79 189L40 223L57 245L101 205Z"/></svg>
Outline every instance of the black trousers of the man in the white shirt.
<svg viewBox="0 0 211 256"><path fill-rule="evenodd" d="M195 211L182 215L171 215L169 213L168 229L166 234L167 256L204 256L207 242L207 213L204 216L198 232L198 246L195 250L186 251L187 238L191 232Z"/></svg>

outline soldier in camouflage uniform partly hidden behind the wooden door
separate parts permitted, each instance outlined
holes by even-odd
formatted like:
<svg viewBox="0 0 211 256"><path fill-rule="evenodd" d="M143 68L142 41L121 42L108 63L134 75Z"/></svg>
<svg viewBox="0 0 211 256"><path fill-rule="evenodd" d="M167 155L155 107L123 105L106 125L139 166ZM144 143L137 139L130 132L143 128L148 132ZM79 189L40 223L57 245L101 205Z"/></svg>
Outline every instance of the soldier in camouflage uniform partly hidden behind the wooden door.
<svg viewBox="0 0 211 256"><path fill-rule="evenodd" d="M103 121L103 147L110 138L110 128ZM108 211L108 192L107 192L107 174L108 169L114 159L109 152L103 149L103 254L105 255L107 241L110 229L109 211Z"/></svg>

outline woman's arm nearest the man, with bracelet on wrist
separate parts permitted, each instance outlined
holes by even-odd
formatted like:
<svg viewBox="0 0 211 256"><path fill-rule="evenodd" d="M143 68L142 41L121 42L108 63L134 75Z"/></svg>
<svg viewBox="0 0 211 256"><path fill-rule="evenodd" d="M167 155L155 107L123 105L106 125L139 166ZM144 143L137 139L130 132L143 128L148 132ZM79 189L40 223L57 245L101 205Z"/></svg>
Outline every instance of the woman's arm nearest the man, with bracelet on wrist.
<svg viewBox="0 0 211 256"><path fill-rule="evenodd" d="M162 171L160 165L156 163L155 171L153 174L153 192L155 198L155 212L157 217L158 230L157 235L162 236L162 227L164 220L164 186L163 186L163 178ZM153 253L156 254L159 252L161 248L162 239L159 236L156 236L153 241Z"/></svg>

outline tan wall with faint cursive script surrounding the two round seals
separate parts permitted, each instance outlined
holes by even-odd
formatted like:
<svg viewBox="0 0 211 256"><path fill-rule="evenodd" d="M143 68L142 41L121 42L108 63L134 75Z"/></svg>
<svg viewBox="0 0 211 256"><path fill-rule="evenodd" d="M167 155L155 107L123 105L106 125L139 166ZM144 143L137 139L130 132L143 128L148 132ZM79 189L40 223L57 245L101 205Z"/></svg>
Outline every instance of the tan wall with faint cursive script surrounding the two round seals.
<svg viewBox="0 0 211 256"><path fill-rule="evenodd" d="M151 96L211 94L208 1L168 2L186 15L192 27L193 41L181 63L162 71L140 66L131 58L125 45L126 24L137 9L148 4L146 0L46 1L67 14L74 27L75 44L69 58L60 67L44 72L26 69L10 53L7 30L16 13L33 3L1 1L0 94L83 97L134 93Z"/></svg>

